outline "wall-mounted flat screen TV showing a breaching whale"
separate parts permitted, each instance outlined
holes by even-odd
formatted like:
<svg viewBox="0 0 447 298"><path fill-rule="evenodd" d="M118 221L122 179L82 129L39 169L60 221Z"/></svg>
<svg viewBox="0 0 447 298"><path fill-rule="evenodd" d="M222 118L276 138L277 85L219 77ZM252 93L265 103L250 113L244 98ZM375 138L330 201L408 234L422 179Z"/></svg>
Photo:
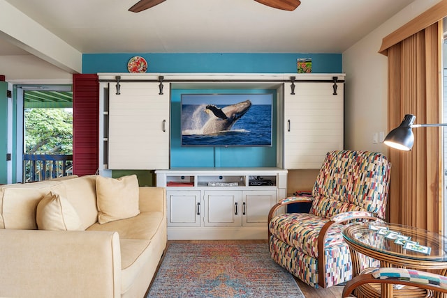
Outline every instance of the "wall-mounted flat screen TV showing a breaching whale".
<svg viewBox="0 0 447 298"><path fill-rule="evenodd" d="M182 146L272 146L272 94L182 94L181 105Z"/></svg>

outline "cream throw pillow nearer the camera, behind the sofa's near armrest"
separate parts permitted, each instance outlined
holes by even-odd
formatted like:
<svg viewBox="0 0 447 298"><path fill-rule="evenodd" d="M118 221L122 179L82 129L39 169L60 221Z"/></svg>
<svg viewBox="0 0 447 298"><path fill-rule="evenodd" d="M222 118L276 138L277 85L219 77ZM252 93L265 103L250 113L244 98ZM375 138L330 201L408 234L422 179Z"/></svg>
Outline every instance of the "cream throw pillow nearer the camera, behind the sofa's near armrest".
<svg viewBox="0 0 447 298"><path fill-rule="evenodd" d="M50 192L37 205L36 221L39 230L82 230L73 205L63 196Z"/></svg>

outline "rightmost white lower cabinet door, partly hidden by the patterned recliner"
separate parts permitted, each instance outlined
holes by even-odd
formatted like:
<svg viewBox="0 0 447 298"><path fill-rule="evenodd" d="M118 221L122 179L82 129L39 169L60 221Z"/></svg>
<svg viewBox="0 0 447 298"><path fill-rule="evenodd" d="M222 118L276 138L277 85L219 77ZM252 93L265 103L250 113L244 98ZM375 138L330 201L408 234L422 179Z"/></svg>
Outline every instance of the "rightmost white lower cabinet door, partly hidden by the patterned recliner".
<svg viewBox="0 0 447 298"><path fill-rule="evenodd" d="M242 191L242 226L267 226L268 212L276 203L275 190Z"/></svg>

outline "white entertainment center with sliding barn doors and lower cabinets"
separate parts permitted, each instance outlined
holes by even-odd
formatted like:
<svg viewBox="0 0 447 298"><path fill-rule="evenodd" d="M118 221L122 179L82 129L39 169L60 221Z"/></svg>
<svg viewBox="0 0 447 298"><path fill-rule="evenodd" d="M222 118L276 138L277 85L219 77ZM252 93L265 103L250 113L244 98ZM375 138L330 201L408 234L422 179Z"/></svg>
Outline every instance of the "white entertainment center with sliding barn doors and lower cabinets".
<svg viewBox="0 0 447 298"><path fill-rule="evenodd" d="M326 152L343 149L344 74L100 74L99 79L99 173L155 171L156 186L166 187L169 240L267 239L270 207L288 194L288 170L319 168ZM276 90L276 166L171 167L170 91L213 88Z"/></svg>

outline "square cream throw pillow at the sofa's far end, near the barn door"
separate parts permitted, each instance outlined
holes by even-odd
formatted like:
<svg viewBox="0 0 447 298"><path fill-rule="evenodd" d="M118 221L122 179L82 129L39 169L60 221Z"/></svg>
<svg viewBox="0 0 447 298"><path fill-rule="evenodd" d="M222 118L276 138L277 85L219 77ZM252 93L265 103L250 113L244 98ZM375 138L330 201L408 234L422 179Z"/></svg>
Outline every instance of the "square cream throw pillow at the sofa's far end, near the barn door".
<svg viewBox="0 0 447 298"><path fill-rule="evenodd" d="M98 222L127 219L140 214L140 192L136 175L121 178L96 176L96 197L98 200Z"/></svg>

